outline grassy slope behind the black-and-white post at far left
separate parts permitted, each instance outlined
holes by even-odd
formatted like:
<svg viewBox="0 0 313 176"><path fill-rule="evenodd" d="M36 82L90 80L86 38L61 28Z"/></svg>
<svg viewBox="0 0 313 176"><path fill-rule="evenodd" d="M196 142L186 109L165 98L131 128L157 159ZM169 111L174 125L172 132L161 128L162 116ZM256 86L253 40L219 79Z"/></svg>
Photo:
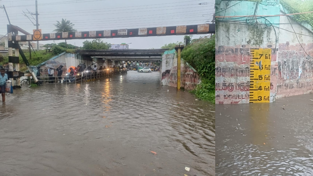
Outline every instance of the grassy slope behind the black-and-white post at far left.
<svg viewBox="0 0 313 176"><path fill-rule="evenodd" d="M39 50L36 51L36 54L32 51L32 57L31 59L29 59L29 52L28 51L23 51L23 53L25 54L28 62L30 65L36 66L40 63L43 63L46 60L51 59L52 57L56 56L56 54L54 53L46 53L46 50ZM14 50L13 50L13 55L14 55ZM0 62L0 65L5 65L7 64L9 61L9 57L8 54L6 54L5 56L3 56L3 61ZM21 55L19 55L19 62L20 62L20 71L26 71L27 67L26 64L24 63ZM14 64L13 64L14 65Z"/></svg>

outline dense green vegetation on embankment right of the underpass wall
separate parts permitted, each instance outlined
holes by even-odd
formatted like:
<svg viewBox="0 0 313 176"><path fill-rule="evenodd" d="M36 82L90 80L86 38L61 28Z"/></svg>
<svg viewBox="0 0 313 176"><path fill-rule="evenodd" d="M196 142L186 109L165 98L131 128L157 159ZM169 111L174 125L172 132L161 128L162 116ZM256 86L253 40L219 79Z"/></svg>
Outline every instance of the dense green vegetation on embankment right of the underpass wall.
<svg viewBox="0 0 313 176"><path fill-rule="evenodd" d="M201 83L193 91L199 99L215 103L215 35L182 50L182 58L197 70Z"/></svg>

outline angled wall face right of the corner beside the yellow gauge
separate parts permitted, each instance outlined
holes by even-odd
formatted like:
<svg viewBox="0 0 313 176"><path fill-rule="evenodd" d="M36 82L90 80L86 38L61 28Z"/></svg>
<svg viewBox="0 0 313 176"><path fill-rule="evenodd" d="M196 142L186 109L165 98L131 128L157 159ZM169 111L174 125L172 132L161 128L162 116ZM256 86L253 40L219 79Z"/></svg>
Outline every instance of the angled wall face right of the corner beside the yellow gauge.
<svg viewBox="0 0 313 176"><path fill-rule="evenodd" d="M291 23L295 22L292 18L289 20ZM280 17L280 23L289 23L288 18ZM303 35L290 33L289 31L293 32L292 27L296 33ZM310 37L313 36L312 28L299 24L293 24L292 27L290 24L280 25L280 28L288 31L279 30L277 98L311 93L313 88L313 38Z"/></svg>

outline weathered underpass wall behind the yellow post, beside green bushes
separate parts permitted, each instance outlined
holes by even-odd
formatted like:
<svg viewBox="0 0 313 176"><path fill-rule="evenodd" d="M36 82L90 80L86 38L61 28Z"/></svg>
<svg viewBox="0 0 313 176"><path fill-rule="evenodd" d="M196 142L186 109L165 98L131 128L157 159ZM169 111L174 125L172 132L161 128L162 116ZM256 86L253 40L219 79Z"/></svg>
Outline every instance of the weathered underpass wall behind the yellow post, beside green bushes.
<svg viewBox="0 0 313 176"><path fill-rule="evenodd" d="M181 59L181 87L185 90L193 90L200 82L198 72L185 60ZM177 55L175 49L166 51L162 55L160 64L161 85L177 87Z"/></svg>

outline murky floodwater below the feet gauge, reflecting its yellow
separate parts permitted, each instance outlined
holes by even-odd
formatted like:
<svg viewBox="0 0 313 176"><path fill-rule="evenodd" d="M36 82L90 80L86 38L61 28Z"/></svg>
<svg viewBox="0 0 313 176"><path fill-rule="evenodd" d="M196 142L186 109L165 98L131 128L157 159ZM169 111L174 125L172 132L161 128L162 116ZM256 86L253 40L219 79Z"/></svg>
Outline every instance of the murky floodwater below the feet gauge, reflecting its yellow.
<svg viewBox="0 0 313 176"><path fill-rule="evenodd" d="M216 175L313 175L310 99L216 105Z"/></svg>

